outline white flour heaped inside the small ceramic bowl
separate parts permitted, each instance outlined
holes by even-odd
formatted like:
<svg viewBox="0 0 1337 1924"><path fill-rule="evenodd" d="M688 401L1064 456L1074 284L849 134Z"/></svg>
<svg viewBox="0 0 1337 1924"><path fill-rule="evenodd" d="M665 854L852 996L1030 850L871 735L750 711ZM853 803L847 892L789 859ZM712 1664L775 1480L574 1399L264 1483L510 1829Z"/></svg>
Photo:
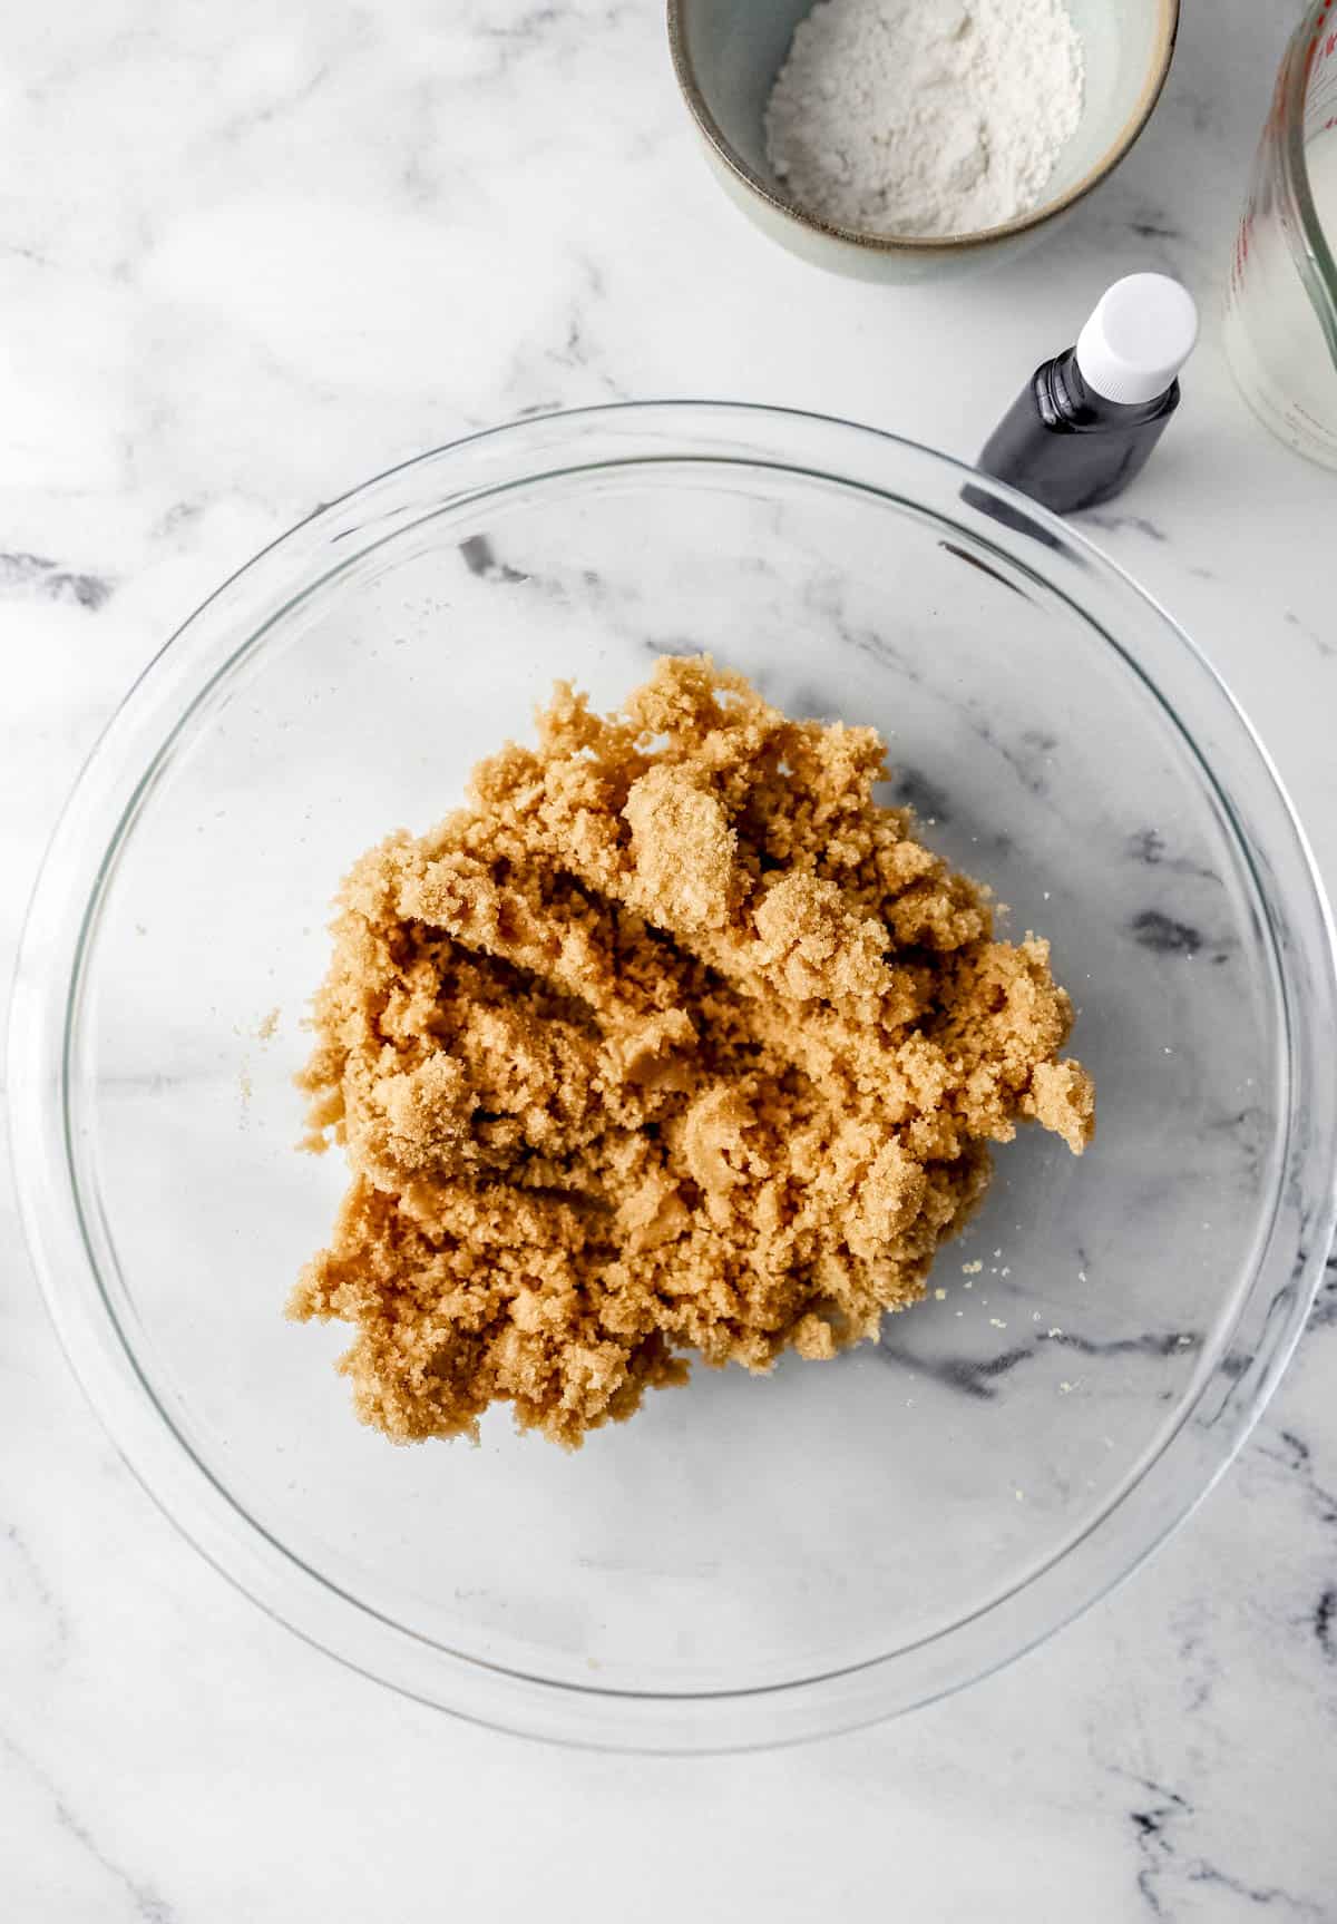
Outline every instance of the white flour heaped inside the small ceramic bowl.
<svg viewBox="0 0 1337 1924"><path fill-rule="evenodd" d="M1064 0L820 0L766 108L800 206L883 235L960 235L1037 206L1081 115Z"/></svg>

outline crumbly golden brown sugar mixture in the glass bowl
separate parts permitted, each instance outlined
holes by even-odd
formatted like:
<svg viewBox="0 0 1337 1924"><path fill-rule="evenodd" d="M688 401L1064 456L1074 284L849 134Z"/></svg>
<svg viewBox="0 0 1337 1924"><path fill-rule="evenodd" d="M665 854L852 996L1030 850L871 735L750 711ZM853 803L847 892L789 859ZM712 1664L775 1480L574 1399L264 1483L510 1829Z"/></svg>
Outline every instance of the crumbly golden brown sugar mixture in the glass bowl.
<svg viewBox="0 0 1337 1924"><path fill-rule="evenodd" d="M1081 1152L1048 945L883 808L868 727L706 658L348 875L302 1077L352 1183L296 1318L342 1318L396 1441L491 1403L579 1445L687 1356L833 1356L923 1295L1018 1118Z"/></svg>

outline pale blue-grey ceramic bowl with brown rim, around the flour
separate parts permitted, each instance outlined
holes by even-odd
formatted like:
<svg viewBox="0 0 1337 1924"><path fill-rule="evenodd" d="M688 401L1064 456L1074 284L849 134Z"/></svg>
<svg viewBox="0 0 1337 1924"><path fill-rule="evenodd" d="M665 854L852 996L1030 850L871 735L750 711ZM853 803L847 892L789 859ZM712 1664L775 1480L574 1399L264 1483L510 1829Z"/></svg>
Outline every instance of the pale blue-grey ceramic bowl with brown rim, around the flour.
<svg viewBox="0 0 1337 1924"><path fill-rule="evenodd" d="M1047 198L981 233L925 239L837 227L806 212L766 158L764 115L812 0L668 0L669 48L706 158L743 212L793 254L864 281L970 273L1016 254L1118 167L1170 73L1179 0L1068 0L1087 62L1081 121Z"/></svg>

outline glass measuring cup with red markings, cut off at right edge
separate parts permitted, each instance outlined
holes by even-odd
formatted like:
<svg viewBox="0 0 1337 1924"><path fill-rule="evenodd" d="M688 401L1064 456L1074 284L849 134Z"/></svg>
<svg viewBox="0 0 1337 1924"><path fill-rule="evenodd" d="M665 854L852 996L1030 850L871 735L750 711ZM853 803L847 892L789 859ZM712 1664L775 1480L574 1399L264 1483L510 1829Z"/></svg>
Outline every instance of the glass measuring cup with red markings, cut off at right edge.
<svg viewBox="0 0 1337 1924"><path fill-rule="evenodd" d="M1337 6L1314 0L1277 73L1225 300L1225 354L1283 441L1337 468Z"/></svg>

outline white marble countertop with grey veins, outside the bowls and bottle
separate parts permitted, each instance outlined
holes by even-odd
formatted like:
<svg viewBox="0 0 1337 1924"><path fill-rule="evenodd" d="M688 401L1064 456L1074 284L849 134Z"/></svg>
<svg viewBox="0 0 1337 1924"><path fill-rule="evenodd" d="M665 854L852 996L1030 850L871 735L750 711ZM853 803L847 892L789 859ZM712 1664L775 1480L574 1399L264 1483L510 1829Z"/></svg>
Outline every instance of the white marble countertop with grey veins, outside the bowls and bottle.
<svg viewBox="0 0 1337 1924"><path fill-rule="evenodd" d="M1220 354L1295 0L1187 0L1141 144L968 289L825 279L743 223L654 0L71 0L0 140L0 974L54 814L164 635L358 479L546 406L708 394L970 456L1100 287L1206 310L1095 535L1189 627L1337 887L1331 475ZM85 1408L0 1193L0 1911L15 1924L610 1914L1337 1918L1337 1270L1243 1460L1039 1655L912 1718L716 1760L562 1753L339 1668L235 1593Z"/></svg>

